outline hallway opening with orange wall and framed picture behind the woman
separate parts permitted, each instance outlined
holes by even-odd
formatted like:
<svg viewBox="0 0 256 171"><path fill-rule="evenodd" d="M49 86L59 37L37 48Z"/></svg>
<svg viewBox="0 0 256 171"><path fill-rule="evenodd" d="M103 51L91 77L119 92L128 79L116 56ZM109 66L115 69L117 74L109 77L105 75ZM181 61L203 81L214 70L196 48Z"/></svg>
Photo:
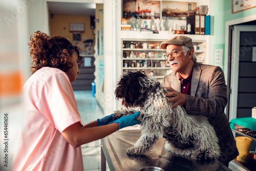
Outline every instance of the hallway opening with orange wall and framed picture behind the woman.
<svg viewBox="0 0 256 171"><path fill-rule="evenodd" d="M48 2L49 30L51 36L67 38L77 46L83 63L80 74L72 88L77 90L92 90L94 82L94 44L95 44L95 3Z"/></svg>

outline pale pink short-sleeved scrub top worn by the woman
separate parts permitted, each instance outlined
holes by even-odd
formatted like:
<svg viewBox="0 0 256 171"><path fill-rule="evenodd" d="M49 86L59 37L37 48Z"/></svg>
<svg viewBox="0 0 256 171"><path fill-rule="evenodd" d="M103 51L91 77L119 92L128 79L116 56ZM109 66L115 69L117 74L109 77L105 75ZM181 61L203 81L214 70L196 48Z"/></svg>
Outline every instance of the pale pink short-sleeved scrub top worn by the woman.
<svg viewBox="0 0 256 171"><path fill-rule="evenodd" d="M61 135L80 122L67 74L56 68L36 71L24 85L26 112L12 170L83 170L81 147Z"/></svg>

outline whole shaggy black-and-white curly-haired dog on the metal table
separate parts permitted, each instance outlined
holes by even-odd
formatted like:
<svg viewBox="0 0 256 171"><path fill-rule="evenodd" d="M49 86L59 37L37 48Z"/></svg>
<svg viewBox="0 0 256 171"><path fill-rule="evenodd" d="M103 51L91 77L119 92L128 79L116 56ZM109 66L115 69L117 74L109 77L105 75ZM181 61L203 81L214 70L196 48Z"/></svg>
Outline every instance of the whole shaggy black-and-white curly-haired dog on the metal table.
<svg viewBox="0 0 256 171"><path fill-rule="evenodd" d="M141 71L123 72L115 90L127 110L115 111L113 118L140 111L141 137L127 149L127 155L143 156L159 138L165 138L165 149L192 159L214 159L220 147L214 127L205 116L187 115L182 106L172 108L164 95L167 90Z"/></svg>

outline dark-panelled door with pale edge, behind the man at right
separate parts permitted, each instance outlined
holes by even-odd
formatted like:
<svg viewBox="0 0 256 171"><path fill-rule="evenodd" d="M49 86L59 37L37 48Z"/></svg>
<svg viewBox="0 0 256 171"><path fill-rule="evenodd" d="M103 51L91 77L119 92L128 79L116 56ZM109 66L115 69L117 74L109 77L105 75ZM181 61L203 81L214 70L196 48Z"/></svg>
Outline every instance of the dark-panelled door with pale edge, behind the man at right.
<svg viewBox="0 0 256 171"><path fill-rule="evenodd" d="M236 25L231 31L230 120L251 117L256 105L256 25Z"/></svg>

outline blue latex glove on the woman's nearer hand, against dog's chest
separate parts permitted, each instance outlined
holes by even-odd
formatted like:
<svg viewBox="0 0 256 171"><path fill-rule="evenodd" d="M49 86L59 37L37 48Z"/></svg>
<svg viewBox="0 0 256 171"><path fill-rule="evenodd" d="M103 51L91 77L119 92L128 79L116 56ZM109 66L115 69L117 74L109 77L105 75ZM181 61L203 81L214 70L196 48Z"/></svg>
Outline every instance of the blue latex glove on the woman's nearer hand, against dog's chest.
<svg viewBox="0 0 256 171"><path fill-rule="evenodd" d="M119 130L122 129L123 127L126 126L133 126L136 124L140 124L140 121L136 120L135 118L137 118L140 115L140 112L136 112L133 115L127 115L127 116L123 116L117 120L114 120L110 123L119 123Z"/></svg>

